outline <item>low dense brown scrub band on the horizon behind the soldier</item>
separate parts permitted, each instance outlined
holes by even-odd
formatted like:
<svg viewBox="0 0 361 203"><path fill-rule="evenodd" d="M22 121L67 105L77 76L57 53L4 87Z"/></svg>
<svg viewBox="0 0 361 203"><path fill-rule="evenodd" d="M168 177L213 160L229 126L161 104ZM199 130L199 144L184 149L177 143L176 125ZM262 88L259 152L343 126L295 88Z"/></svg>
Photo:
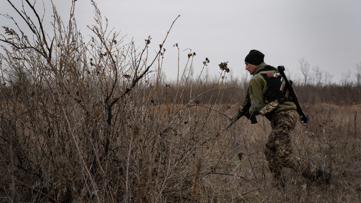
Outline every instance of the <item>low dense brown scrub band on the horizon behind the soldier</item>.
<svg viewBox="0 0 361 203"><path fill-rule="evenodd" d="M159 85L159 94L154 101L157 103L182 102L192 99L195 103L237 104L243 103L247 94L248 83L234 80L217 85L217 81L208 81L196 86L190 82L179 88L175 84ZM215 88L216 87L216 88ZM352 84L294 84L294 89L301 103L327 103L334 105L354 105L361 103L361 86ZM195 92L191 96L191 91ZM178 92L178 93L177 93ZM199 96L200 95L200 96ZM196 98L199 96L198 98ZM176 98L176 100L174 100Z"/></svg>

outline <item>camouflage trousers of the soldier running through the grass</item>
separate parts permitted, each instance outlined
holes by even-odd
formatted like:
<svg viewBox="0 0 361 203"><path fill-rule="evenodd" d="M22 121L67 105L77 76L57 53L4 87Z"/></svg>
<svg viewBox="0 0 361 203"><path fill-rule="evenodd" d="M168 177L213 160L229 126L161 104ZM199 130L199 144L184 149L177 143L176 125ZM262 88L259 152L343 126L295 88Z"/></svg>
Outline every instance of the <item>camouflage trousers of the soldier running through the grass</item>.
<svg viewBox="0 0 361 203"><path fill-rule="evenodd" d="M309 180L314 180L317 169L292 152L292 142L289 133L293 130L299 115L296 110L279 111L272 115L272 132L266 143L265 155L268 167L275 181L282 181L283 167L293 168Z"/></svg>

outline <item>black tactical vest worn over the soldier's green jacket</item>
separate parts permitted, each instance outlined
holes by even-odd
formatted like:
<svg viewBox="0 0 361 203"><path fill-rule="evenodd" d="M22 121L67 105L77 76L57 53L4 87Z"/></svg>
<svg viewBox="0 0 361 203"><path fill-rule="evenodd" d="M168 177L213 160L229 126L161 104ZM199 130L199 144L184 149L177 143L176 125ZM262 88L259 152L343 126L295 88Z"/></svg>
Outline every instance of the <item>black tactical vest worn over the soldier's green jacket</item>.
<svg viewBox="0 0 361 203"><path fill-rule="evenodd" d="M256 74L260 73L267 83L267 90L264 94L265 104L270 103L271 101L278 100L279 104L292 101L291 97L286 98L286 90L283 92L281 89L281 75L278 70L270 65L267 65L265 68L259 70Z"/></svg>

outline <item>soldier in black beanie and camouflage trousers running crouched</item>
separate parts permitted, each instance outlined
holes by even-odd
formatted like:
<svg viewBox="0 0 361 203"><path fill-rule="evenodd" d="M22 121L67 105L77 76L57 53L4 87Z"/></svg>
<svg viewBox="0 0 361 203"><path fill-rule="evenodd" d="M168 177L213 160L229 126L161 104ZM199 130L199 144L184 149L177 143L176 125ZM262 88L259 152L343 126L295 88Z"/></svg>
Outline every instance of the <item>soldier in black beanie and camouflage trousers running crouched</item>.
<svg viewBox="0 0 361 203"><path fill-rule="evenodd" d="M289 133L299 118L296 105L286 91L280 91L280 75L276 68L264 63L264 54L251 50L245 58L246 70L253 75L249 82L248 93L240 112L248 118L262 114L271 121L272 132L268 137L265 155L273 174L273 185L284 187L281 177L283 167L293 168L305 178L321 180L329 184L329 171L321 170L305 162L292 152Z"/></svg>

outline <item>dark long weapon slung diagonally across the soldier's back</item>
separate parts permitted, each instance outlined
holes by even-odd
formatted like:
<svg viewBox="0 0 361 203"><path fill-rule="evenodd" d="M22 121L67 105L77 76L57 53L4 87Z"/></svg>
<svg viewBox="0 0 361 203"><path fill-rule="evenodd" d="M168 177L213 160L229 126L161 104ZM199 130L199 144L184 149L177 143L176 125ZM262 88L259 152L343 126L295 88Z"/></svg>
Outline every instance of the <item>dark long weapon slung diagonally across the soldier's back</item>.
<svg viewBox="0 0 361 203"><path fill-rule="evenodd" d="M301 105L298 102L297 95L292 87L292 81L288 80L286 75L284 74L285 67L284 66L278 66L277 67L278 72L280 73L282 79L281 79L281 89L280 91L283 92L283 89L286 88L286 98L288 98L288 95L291 96L292 102L296 104L297 112L300 115L300 121L303 121L304 123L307 123L309 121L309 117L303 112Z"/></svg>

